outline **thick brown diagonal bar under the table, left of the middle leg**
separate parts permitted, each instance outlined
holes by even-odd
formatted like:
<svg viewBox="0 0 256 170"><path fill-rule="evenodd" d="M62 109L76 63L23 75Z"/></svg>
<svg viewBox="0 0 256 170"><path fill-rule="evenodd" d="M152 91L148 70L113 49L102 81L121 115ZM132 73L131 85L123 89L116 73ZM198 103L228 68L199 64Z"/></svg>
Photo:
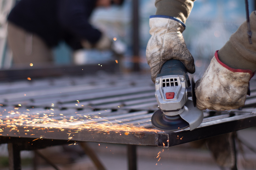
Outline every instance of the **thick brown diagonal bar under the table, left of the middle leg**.
<svg viewBox="0 0 256 170"><path fill-rule="evenodd" d="M79 144L83 148L83 151L92 159L98 170L106 170L103 164L101 164L95 152L88 146L86 142L80 142Z"/></svg>

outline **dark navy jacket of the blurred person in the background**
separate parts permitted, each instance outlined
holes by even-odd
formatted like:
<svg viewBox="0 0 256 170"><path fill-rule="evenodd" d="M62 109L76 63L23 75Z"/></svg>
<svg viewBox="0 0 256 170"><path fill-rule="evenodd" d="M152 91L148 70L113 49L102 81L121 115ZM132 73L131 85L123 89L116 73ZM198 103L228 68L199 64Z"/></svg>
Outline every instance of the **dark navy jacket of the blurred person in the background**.
<svg viewBox="0 0 256 170"><path fill-rule="evenodd" d="M94 8L95 0L21 0L8 21L37 34L49 47L65 40L73 49L79 49L81 39L95 43L101 37L88 21Z"/></svg>

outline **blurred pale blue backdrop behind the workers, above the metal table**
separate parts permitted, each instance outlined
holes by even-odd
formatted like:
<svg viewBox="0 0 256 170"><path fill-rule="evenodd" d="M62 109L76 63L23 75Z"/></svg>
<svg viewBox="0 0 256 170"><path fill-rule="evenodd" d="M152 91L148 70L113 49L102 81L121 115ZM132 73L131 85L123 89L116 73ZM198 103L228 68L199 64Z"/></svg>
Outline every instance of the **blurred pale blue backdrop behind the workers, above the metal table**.
<svg viewBox="0 0 256 170"><path fill-rule="evenodd" d="M12 53L6 45L6 16L19 0L0 0L0 67L12 66ZM149 34L149 16L156 12L155 0L125 0L121 7L99 8L93 11L91 23L106 33L107 37L121 44L123 52L122 71L149 71L145 50ZM255 10L254 0L249 0L249 12ZM137 12L137 13L136 13ZM135 19L134 19L135 17ZM246 20L243 0L197 0L186 21L183 32L187 48L192 53L196 74L202 73L214 52L219 50ZM137 30L138 29L138 30ZM135 39L135 40L134 40ZM120 45L119 45L120 46ZM137 54L138 53L138 54ZM65 42L54 48L54 63L102 64L114 60L111 51L72 51ZM134 68L134 63L138 63Z"/></svg>

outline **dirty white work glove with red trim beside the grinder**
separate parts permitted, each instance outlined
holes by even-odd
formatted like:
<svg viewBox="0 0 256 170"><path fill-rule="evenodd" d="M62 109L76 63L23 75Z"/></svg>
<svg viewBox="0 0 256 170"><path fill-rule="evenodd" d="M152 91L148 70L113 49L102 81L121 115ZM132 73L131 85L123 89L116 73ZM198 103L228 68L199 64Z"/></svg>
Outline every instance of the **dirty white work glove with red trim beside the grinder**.
<svg viewBox="0 0 256 170"><path fill-rule="evenodd" d="M251 70L232 69L223 64L216 51L203 77L196 82L197 107L224 111L244 106L253 75Z"/></svg>

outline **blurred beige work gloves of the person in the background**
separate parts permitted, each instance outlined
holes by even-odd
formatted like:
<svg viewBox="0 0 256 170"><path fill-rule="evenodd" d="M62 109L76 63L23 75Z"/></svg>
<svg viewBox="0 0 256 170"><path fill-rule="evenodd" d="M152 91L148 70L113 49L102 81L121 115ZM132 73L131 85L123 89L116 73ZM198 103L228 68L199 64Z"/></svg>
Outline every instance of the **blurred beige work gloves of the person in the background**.
<svg viewBox="0 0 256 170"><path fill-rule="evenodd" d="M81 45L83 46L83 48L86 48L86 49L95 48L97 50L102 51L102 50L110 50L112 42L105 34L102 33L101 37L97 43L92 44L92 43L88 42L87 40L82 40Z"/></svg>

